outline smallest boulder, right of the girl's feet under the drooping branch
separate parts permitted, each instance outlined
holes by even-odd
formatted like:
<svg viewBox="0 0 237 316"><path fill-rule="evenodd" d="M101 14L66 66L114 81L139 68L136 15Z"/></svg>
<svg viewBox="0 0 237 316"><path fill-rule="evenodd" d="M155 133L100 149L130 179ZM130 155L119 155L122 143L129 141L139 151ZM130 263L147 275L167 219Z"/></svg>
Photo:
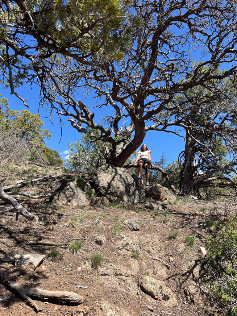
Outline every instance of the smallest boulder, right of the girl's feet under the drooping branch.
<svg viewBox="0 0 237 316"><path fill-rule="evenodd" d="M147 190L147 197L151 197L155 201L161 201L163 204L173 204L176 201L176 196L160 184L154 184Z"/></svg>

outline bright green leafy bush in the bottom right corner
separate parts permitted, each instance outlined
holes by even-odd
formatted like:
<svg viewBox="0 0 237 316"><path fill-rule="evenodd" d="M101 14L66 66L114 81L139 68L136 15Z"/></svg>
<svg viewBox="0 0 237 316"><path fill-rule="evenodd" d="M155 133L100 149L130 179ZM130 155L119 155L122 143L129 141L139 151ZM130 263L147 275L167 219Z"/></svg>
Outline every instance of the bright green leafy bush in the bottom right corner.
<svg viewBox="0 0 237 316"><path fill-rule="evenodd" d="M205 247L213 276L211 281L216 301L230 314L236 315L237 306L237 222L231 218L226 227L206 239Z"/></svg>

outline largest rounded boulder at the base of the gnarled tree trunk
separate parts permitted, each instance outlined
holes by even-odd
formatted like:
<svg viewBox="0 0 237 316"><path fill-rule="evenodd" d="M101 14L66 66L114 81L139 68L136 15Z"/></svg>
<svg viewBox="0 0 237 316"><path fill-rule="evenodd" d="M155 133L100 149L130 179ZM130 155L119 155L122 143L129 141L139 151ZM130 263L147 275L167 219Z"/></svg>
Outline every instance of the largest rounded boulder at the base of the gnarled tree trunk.
<svg viewBox="0 0 237 316"><path fill-rule="evenodd" d="M134 205L142 198L142 186L136 175L126 169L105 165L98 168L91 180L95 189L106 196L110 202L123 202Z"/></svg>

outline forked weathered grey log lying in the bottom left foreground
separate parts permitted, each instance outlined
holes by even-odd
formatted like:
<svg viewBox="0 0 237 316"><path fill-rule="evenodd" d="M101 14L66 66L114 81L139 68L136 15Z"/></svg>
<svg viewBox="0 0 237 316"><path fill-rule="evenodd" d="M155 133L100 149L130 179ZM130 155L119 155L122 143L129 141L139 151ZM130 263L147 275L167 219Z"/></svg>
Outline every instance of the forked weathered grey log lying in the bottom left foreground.
<svg viewBox="0 0 237 316"><path fill-rule="evenodd" d="M83 297L74 292L67 291L46 291L38 288L23 288L20 284L15 281L10 281L8 283L9 287L14 289L19 295L26 299L33 307L39 312L39 307L35 302L27 295L38 296L40 298L51 298L59 302L70 302L81 304L83 302Z"/></svg>

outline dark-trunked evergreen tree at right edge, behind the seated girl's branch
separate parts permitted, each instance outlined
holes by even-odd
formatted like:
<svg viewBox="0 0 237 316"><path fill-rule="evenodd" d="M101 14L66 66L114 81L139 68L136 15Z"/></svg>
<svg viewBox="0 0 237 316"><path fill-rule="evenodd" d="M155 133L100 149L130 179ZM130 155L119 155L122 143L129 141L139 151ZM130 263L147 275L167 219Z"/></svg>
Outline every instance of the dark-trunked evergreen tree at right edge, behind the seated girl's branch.
<svg viewBox="0 0 237 316"><path fill-rule="evenodd" d="M204 69L204 73L206 71ZM219 69L214 72L217 76L222 73ZM185 131L185 149L179 155L179 186L187 194L198 193L200 188L208 186L237 185L230 179L237 165L234 81L231 76L190 88L172 100L169 112L163 111L156 116L157 124L164 129L178 126ZM218 87L218 94L213 94L212 85ZM231 154L229 160L226 159L228 154Z"/></svg>

